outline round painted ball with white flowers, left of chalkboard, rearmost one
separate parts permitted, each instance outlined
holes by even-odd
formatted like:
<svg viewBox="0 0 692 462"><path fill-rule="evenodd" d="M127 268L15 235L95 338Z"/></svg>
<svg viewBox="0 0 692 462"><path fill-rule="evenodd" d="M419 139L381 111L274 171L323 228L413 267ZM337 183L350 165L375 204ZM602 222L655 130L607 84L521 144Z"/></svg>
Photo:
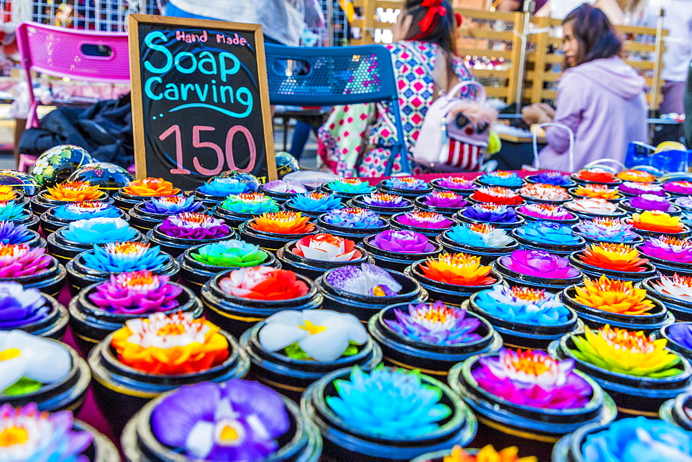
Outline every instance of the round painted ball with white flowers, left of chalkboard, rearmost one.
<svg viewBox="0 0 692 462"><path fill-rule="evenodd" d="M39 156L31 174L39 185L50 187L66 181L75 170L92 162L91 155L81 147L59 145Z"/></svg>

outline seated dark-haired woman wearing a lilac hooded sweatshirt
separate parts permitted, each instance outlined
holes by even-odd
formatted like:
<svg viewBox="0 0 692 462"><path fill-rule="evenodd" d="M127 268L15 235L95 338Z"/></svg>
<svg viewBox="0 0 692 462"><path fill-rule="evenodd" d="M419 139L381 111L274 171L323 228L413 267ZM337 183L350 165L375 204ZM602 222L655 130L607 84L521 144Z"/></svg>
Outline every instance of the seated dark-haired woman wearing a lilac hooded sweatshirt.
<svg viewBox="0 0 692 462"><path fill-rule="evenodd" d="M558 83L554 111L531 104L522 111L529 124L556 122L574 131L574 169L601 158L623 161L630 141L648 141L644 77L619 56L622 43L598 8L582 5L563 21L567 69ZM540 167L569 170L570 136L546 127Z"/></svg>

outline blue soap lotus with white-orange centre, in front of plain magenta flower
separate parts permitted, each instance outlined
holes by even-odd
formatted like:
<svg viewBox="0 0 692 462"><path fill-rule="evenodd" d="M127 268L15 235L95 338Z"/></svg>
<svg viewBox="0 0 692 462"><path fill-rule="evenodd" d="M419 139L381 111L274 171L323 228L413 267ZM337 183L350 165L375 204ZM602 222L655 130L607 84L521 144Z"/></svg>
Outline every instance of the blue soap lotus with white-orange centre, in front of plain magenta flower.
<svg viewBox="0 0 692 462"><path fill-rule="evenodd" d="M521 324L553 326L572 316L559 295L534 288L498 285L477 293L474 300L486 313Z"/></svg>

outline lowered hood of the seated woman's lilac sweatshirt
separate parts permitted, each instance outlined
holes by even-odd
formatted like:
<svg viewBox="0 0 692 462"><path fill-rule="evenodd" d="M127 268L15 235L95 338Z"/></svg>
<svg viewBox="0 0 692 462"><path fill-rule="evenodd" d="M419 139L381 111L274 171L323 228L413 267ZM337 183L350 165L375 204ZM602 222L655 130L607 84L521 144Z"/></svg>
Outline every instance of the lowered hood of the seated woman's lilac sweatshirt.
<svg viewBox="0 0 692 462"><path fill-rule="evenodd" d="M565 75L567 73L587 78L624 100L641 95L646 84L644 77L637 74L637 71L619 56L594 59L567 69Z"/></svg>

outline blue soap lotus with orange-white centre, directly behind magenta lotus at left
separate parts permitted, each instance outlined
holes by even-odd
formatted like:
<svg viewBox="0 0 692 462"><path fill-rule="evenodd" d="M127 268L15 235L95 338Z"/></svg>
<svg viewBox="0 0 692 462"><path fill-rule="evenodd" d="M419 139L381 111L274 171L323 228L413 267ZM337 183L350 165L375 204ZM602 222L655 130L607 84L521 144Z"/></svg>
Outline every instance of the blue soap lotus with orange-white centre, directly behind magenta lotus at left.
<svg viewBox="0 0 692 462"><path fill-rule="evenodd" d="M168 257L161 253L158 246L150 248L148 243L125 241L109 242L103 247L94 244L93 253L84 253L82 259L93 270L124 272L157 270Z"/></svg>

